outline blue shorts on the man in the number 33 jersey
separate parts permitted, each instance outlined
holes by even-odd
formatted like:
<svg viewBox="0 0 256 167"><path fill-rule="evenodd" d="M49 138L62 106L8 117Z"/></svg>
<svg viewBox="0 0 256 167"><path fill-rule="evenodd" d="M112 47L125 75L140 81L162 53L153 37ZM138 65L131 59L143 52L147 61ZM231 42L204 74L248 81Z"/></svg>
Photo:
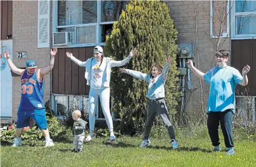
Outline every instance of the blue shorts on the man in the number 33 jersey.
<svg viewBox="0 0 256 167"><path fill-rule="evenodd" d="M45 108L40 110L18 110L18 120L16 128L24 128L29 126L28 119L33 118L40 130L48 128L46 121Z"/></svg>

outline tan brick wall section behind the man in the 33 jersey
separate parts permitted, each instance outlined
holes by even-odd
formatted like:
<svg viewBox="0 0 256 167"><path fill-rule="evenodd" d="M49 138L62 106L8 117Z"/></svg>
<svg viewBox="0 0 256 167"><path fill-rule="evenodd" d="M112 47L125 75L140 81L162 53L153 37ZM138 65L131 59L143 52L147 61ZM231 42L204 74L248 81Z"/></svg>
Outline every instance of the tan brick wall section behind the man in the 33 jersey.
<svg viewBox="0 0 256 167"><path fill-rule="evenodd" d="M38 1L13 1L13 55L25 51L39 68L49 65L49 48L38 49ZM13 56L16 67L26 67L28 59ZM44 78L44 102L50 99L50 75ZM17 120L21 100L20 77L13 77L13 120Z"/></svg>

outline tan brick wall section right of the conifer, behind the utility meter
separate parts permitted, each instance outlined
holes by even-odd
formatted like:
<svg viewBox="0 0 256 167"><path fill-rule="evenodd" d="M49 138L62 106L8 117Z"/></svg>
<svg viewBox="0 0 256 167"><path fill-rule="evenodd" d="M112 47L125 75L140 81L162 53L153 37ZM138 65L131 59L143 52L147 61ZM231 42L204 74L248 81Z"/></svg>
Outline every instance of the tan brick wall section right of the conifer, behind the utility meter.
<svg viewBox="0 0 256 167"><path fill-rule="evenodd" d="M195 67L207 72L215 65L214 52L216 39L210 38L210 1L166 1L170 7L170 16L178 30L178 42L193 42L195 45ZM196 9L196 10L195 10ZM196 35L197 27L197 35ZM221 39L220 49L230 50L230 38ZM198 50L198 51L197 51ZM198 54L197 54L198 52ZM198 59L198 60L197 60ZM230 61L228 62L228 64ZM185 111L187 113L201 113L201 89L197 76L191 74L193 92L187 88L185 93ZM203 105L207 106L208 85L202 80ZM203 111L205 112L205 111Z"/></svg>

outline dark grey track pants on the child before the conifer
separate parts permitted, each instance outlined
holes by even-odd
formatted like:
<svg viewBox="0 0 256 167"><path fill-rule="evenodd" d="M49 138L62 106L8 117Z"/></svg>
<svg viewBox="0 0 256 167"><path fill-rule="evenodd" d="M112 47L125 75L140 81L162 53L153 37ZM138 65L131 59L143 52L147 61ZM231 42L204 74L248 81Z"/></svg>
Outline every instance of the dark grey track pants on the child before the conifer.
<svg viewBox="0 0 256 167"><path fill-rule="evenodd" d="M150 136L150 130L153 126L153 122L156 117L156 113L160 115L163 123L168 130L171 140L175 139L175 133L173 130L173 125L170 122L170 118L168 116L168 110L165 104L165 100L163 98L156 100L148 100L148 108L146 113L146 128L143 136L143 140L148 140L148 136Z"/></svg>

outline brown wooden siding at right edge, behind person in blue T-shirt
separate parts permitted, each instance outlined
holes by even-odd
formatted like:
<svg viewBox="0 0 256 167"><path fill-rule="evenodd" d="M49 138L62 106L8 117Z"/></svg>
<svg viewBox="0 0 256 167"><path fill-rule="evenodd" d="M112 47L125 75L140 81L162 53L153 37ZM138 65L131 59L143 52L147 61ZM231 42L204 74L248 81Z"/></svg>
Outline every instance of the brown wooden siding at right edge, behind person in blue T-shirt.
<svg viewBox="0 0 256 167"><path fill-rule="evenodd" d="M248 85L237 86L236 95L256 95L256 39L232 40L231 41L231 66L238 69L242 74L245 65L250 65L247 74Z"/></svg>

